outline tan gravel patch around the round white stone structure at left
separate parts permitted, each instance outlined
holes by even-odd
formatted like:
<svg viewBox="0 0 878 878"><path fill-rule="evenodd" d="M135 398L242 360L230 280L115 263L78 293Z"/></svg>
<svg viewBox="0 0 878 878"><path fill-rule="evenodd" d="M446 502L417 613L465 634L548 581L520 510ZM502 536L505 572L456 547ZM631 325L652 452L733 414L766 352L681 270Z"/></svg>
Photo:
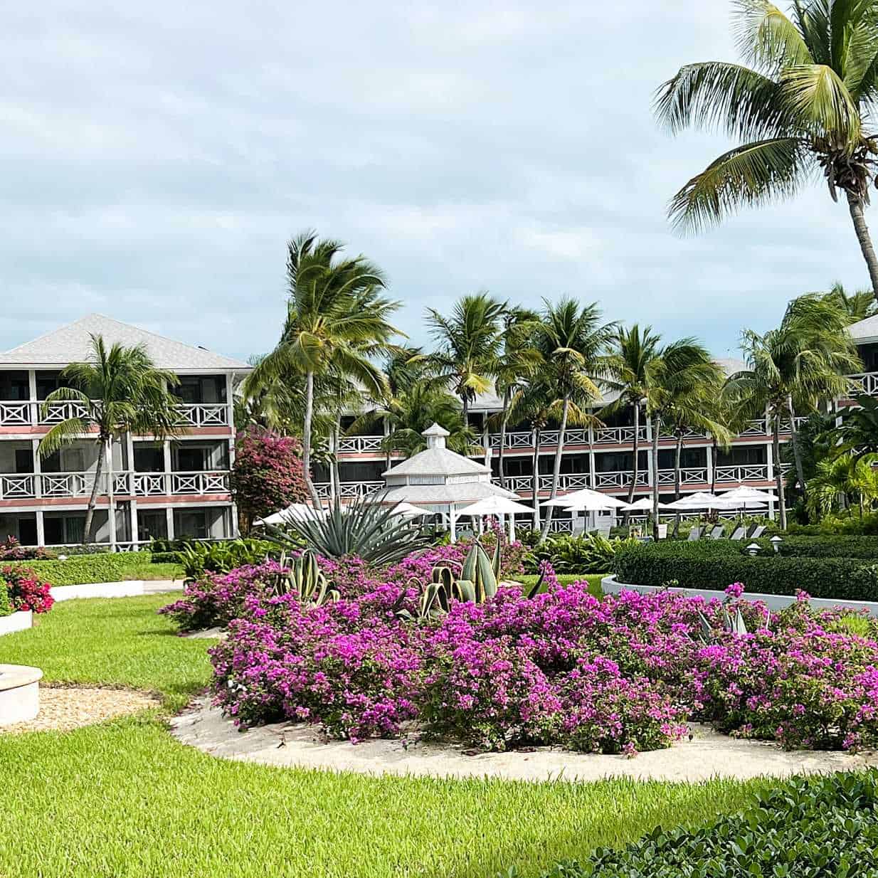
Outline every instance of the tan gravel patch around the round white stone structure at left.
<svg viewBox="0 0 878 878"><path fill-rule="evenodd" d="M6 725L0 728L0 735L21 731L70 731L160 704L155 695L132 689L40 686L40 713L36 719Z"/></svg>

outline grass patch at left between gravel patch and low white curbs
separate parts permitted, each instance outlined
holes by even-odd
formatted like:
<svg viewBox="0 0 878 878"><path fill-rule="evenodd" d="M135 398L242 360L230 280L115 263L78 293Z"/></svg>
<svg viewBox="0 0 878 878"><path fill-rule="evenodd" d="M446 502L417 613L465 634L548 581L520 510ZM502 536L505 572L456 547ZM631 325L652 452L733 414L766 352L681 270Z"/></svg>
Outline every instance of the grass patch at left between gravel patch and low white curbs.
<svg viewBox="0 0 878 878"><path fill-rule="evenodd" d="M34 616L31 630L0 637L0 663L40 667L46 680L159 692L169 709L181 709L210 678L211 641L179 637L167 616L155 612L174 598L57 603Z"/></svg>

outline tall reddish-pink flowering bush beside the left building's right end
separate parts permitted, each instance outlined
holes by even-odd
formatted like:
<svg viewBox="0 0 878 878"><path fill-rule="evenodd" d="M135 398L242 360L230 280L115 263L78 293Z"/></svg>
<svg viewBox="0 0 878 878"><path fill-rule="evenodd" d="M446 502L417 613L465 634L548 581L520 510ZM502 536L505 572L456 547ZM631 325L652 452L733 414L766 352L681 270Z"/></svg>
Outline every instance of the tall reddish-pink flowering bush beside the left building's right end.
<svg viewBox="0 0 878 878"><path fill-rule="evenodd" d="M229 487L247 529L260 515L306 502L299 440L255 427L240 433Z"/></svg>

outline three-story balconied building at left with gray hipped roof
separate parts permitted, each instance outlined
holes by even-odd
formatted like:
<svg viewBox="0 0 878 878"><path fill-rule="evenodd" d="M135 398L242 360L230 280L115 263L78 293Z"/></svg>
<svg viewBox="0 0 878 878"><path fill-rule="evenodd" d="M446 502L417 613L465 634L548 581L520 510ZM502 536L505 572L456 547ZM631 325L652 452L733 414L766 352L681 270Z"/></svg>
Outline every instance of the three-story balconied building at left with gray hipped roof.
<svg viewBox="0 0 878 878"><path fill-rule="evenodd" d="M38 447L52 424L76 407L56 403L44 410L44 400L63 384L68 363L89 359L91 335L102 335L108 345L142 344L157 367L175 371L182 413L172 439L126 434L110 443L97 486L96 542L124 549L153 537L236 536L228 487L233 390L247 363L90 314L0 354L0 540L83 542L97 443L83 434L51 457L40 457Z"/></svg>

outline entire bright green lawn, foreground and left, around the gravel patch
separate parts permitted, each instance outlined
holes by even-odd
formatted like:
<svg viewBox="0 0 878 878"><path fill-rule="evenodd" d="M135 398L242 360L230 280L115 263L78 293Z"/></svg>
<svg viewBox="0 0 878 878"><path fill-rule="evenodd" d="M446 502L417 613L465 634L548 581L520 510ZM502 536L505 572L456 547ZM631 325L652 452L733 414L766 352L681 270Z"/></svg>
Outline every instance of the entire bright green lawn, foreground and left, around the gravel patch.
<svg viewBox="0 0 878 878"><path fill-rule="evenodd" d="M136 686L184 703L210 642L176 637L149 596L69 601L0 638L47 680ZM756 785L369 778L214 759L161 718L0 734L4 878L490 878L535 874L656 824L736 810Z"/></svg>

